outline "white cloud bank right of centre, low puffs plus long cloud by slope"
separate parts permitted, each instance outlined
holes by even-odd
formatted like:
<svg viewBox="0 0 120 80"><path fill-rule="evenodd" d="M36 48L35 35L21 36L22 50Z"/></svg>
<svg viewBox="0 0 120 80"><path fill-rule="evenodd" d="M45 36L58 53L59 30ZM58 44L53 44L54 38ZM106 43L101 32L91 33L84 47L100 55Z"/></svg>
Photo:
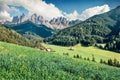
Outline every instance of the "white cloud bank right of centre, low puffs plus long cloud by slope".
<svg viewBox="0 0 120 80"><path fill-rule="evenodd" d="M81 14L79 14L77 11L74 11L73 13L70 14L65 13L65 16L70 20L80 19L84 21L94 15L102 14L108 11L110 11L110 7L109 5L105 4L102 6L95 6L92 8L88 8L84 10Z"/></svg>

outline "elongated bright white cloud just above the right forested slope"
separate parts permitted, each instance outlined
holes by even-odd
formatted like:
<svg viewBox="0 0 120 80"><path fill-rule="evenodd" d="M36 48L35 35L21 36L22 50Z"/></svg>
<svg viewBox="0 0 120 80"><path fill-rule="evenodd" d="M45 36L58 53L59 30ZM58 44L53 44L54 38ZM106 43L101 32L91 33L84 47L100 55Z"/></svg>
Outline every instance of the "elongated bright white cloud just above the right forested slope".
<svg viewBox="0 0 120 80"><path fill-rule="evenodd" d="M93 8L86 9L79 15L80 20L86 20L94 15L102 14L108 12L110 7L108 5L96 6Z"/></svg>

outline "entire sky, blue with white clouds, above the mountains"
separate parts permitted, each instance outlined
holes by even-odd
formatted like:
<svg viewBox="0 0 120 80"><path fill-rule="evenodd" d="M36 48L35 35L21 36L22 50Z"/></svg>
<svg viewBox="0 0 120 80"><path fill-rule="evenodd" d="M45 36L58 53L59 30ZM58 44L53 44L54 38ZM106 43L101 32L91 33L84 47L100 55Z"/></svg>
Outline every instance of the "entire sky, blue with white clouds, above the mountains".
<svg viewBox="0 0 120 80"><path fill-rule="evenodd" d="M66 17L82 21L120 6L120 0L0 0L0 21L34 13L50 20Z"/></svg>

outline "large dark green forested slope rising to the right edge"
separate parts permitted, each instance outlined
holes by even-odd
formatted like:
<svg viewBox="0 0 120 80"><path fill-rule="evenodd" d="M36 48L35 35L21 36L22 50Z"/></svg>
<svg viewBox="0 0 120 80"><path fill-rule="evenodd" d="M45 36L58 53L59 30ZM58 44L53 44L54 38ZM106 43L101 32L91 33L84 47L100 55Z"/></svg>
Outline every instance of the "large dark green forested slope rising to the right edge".
<svg viewBox="0 0 120 80"><path fill-rule="evenodd" d="M106 43L111 37L120 35L120 6L100 15L93 16L80 24L66 28L45 39L57 45L70 46L77 43L92 45ZM120 38L119 38L120 39Z"/></svg>

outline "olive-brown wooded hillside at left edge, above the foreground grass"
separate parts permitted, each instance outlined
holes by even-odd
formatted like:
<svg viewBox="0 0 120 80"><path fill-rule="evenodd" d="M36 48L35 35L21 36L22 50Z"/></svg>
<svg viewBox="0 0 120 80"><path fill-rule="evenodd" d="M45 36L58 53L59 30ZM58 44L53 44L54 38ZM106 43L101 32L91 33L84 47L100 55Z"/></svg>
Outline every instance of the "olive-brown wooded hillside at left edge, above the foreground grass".
<svg viewBox="0 0 120 80"><path fill-rule="evenodd" d="M39 41L28 40L27 38L23 37L17 32L10 29L6 29L3 26L0 26L0 41L14 43L14 44L23 45L23 46L29 46L29 47L42 48Z"/></svg>

